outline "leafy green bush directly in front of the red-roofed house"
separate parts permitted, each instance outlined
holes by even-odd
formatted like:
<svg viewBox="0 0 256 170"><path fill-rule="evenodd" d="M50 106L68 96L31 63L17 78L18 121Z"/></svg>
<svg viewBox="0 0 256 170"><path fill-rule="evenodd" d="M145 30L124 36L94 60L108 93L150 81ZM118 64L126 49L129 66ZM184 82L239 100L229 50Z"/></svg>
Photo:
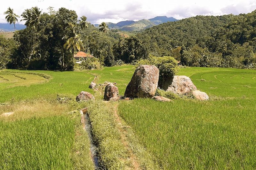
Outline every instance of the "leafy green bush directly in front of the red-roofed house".
<svg viewBox="0 0 256 170"><path fill-rule="evenodd" d="M86 58L80 61L81 64L76 64L76 69L79 70L96 70L101 69L100 60L98 58Z"/></svg>

